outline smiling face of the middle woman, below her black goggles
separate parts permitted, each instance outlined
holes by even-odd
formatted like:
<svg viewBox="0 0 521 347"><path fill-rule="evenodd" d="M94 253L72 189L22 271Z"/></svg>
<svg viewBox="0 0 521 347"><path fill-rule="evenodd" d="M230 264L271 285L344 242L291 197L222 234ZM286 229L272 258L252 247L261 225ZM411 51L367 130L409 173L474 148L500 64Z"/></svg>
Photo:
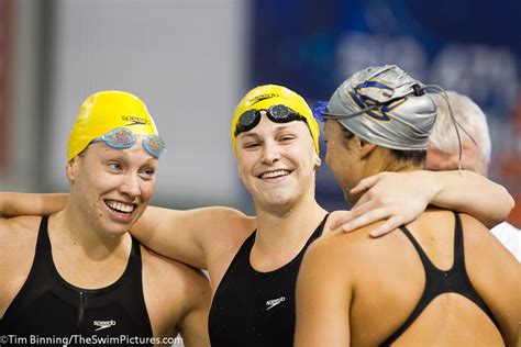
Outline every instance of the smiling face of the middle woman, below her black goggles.
<svg viewBox="0 0 521 347"><path fill-rule="evenodd" d="M307 124L274 123L264 114L236 142L241 179L258 209L284 212L302 199L314 200L319 157Z"/></svg>

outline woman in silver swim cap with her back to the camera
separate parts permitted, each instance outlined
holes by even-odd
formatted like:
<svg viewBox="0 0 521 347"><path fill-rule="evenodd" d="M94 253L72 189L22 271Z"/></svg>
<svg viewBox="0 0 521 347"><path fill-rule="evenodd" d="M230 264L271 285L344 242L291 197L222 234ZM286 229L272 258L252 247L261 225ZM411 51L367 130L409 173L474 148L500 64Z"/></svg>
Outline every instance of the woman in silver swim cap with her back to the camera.
<svg viewBox="0 0 521 347"><path fill-rule="evenodd" d="M370 67L315 110L325 120L328 166L350 201L369 175L421 169L436 115L425 90L397 66ZM378 224L331 233L308 249L296 346L517 344L519 264L486 226L429 208L370 240Z"/></svg>

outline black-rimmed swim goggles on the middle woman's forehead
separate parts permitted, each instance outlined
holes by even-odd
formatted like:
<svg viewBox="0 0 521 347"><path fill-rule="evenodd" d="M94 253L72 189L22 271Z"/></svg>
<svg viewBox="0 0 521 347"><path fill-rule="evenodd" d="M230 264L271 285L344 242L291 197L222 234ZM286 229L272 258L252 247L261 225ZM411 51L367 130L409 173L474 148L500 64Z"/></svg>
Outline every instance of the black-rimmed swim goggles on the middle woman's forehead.
<svg viewBox="0 0 521 347"><path fill-rule="evenodd" d="M274 104L267 110L247 110L239 117L237 125L235 126L235 137L257 126L260 122L260 111L266 111L268 119L275 123L289 123L292 121L306 122L304 116L284 104Z"/></svg>

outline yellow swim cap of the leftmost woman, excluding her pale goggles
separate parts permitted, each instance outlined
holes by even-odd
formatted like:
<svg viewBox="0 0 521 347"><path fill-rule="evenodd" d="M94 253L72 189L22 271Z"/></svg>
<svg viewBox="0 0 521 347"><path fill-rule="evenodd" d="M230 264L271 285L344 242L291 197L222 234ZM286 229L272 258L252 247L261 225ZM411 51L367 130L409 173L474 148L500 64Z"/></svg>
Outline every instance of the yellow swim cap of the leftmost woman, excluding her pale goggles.
<svg viewBox="0 0 521 347"><path fill-rule="evenodd" d="M67 144L67 161L90 142L114 127L128 127L136 135L158 135L146 105L125 91L108 90L91 94L79 108Z"/></svg>

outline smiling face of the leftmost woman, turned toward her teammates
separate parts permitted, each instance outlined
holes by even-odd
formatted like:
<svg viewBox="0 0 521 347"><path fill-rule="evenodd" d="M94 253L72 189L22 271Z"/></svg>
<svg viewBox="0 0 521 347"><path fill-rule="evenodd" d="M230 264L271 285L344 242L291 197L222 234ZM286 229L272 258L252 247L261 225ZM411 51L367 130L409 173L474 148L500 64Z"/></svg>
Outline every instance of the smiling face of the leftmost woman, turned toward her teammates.
<svg viewBox="0 0 521 347"><path fill-rule="evenodd" d="M128 232L154 193L157 166L141 144L129 149L89 145L67 164L70 202L81 222L104 236Z"/></svg>

